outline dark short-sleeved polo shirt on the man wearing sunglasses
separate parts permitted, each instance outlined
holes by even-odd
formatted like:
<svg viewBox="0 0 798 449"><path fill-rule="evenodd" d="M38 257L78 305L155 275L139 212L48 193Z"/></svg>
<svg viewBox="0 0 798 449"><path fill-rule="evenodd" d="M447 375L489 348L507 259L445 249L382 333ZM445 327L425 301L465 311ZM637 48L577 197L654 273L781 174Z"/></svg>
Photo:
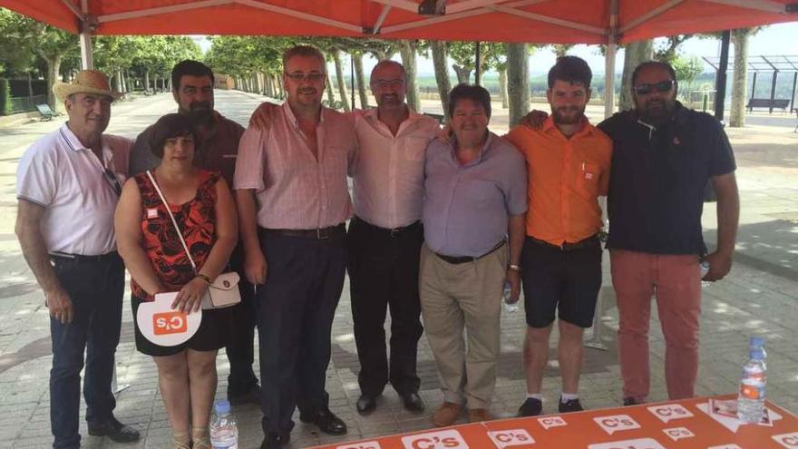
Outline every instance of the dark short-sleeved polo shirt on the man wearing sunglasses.
<svg viewBox="0 0 798 449"><path fill-rule="evenodd" d="M608 248L706 254L701 231L706 182L736 169L720 122L676 102L671 121L657 128L626 111L599 123L599 129L614 145Z"/></svg>

